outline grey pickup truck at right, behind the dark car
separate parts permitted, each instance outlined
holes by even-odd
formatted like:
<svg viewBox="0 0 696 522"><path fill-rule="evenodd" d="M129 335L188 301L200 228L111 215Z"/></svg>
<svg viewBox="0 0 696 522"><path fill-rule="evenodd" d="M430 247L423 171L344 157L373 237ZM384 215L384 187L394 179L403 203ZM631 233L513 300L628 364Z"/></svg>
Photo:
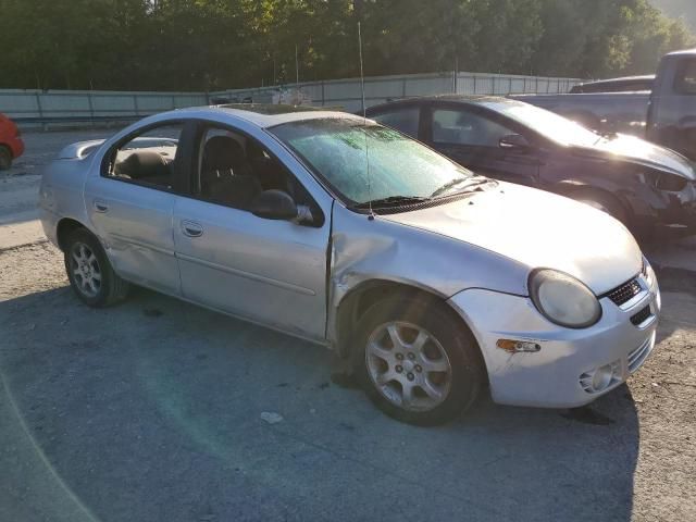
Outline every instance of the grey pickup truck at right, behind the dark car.
<svg viewBox="0 0 696 522"><path fill-rule="evenodd" d="M520 95L604 135L632 134L696 161L696 49L666 54L651 91Z"/></svg>

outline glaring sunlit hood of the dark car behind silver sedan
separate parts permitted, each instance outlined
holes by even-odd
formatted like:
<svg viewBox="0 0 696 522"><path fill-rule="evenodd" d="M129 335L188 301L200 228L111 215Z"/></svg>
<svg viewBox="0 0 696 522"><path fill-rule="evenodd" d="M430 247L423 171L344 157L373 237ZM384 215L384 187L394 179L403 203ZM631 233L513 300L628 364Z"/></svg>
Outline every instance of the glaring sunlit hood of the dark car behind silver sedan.
<svg viewBox="0 0 696 522"><path fill-rule="evenodd" d="M679 174L687 179L696 179L692 163L673 150L651 144L635 136L618 135L613 139L602 139L592 148L579 148L581 153L602 157L610 156L650 169Z"/></svg>

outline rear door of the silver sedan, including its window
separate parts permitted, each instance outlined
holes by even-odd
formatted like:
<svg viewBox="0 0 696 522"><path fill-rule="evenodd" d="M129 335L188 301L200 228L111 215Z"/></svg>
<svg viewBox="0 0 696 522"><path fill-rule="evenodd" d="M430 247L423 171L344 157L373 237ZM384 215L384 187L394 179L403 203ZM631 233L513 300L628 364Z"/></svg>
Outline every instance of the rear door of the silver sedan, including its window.
<svg viewBox="0 0 696 522"><path fill-rule="evenodd" d="M87 214L114 270L174 296L181 295L181 279L172 214L187 175L188 128L183 121L165 121L125 136L85 184Z"/></svg>

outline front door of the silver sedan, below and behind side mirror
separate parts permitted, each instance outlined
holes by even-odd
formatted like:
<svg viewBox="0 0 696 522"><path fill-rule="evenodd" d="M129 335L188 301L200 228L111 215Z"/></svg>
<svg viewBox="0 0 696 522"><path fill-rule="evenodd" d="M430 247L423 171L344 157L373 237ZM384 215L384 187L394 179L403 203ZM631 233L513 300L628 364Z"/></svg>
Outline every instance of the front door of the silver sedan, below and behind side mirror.
<svg viewBox="0 0 696 522"><path fill-rule="evenodd" d="M199 123L188 196L174 204L174 243L186 299L312 339L326 323L331 200L294 174L301 164L257 127ZM306 175L309 175L304 171ZM251 212L263 190L311 208L312 223Z"/></svg>

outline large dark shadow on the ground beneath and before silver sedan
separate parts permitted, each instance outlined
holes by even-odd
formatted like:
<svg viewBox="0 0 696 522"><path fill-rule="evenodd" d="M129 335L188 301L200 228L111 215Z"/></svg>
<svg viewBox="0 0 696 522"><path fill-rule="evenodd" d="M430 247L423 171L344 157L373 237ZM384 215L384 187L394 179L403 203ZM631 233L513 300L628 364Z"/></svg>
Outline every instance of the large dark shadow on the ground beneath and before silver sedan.
<svg viewBox="0 0 696 522"><path fill-rule="evenodd" d="M109 310L66 288L5 301L0 331L37 476L102 521L631 518L625 386L571 415L482 400L418 428L332 384L325 349L145 290ZM0 492L26 464L2 465Z"/></svg>

